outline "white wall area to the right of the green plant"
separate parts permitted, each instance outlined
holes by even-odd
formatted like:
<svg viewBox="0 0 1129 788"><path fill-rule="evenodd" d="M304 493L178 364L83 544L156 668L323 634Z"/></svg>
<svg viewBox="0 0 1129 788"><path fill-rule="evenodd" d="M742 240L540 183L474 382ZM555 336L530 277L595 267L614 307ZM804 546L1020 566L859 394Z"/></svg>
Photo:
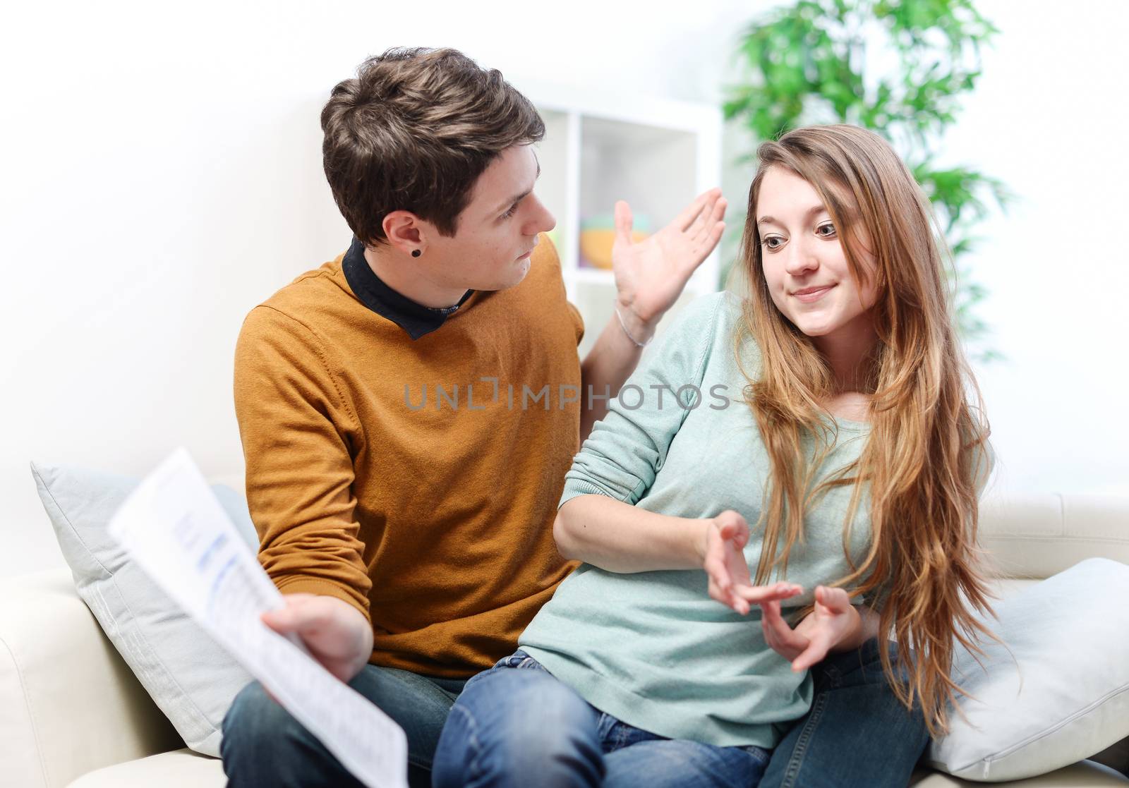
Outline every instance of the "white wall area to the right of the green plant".
<svg viewBox="0 0 1129 788"><path fill-rule="evenodd" d="M946 141L1019 198L974 263L1007 356L979 370L997 487L1129 494L1129 3L1033 10L982 3L999 43Z"/></svg>

